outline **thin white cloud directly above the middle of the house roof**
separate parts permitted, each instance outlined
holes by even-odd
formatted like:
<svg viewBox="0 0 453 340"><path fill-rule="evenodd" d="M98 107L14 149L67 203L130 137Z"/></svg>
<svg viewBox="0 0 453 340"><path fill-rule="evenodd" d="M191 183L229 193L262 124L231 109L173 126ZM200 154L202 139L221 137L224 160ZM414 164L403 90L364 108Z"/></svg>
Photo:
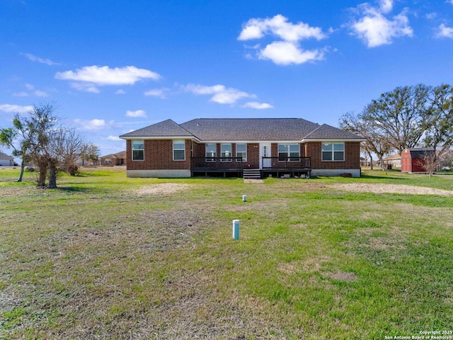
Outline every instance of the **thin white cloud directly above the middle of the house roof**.
<svg viewBox="0 0 453 340"><path fill-rule="evenodd" d="M248 94L238 89L226 88L224 85L202 86L197 84L188 84L184 86L185 91L193 94L208 94L213 95L210 101L219 104L234 104L241 98L256 98L254 94Z"/></svg>

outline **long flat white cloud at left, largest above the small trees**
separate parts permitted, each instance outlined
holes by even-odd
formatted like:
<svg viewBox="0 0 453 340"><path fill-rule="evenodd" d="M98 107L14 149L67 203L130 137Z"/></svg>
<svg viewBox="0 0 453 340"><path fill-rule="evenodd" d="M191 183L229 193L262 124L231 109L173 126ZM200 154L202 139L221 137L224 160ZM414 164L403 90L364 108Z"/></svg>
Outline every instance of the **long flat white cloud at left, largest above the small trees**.
<svg viewBox="0 0 453 340"><path fill-rule="evenodd" d="M148 69L137 69L134 66L115 67L110 69L108 66L98 67L96 65L82 67L75 71L57 72L56 79L78 81L71 86L79 91L99 93L96 86L106 85L132 85L144 79L157 80L161 78L156 72Z"/></svg>

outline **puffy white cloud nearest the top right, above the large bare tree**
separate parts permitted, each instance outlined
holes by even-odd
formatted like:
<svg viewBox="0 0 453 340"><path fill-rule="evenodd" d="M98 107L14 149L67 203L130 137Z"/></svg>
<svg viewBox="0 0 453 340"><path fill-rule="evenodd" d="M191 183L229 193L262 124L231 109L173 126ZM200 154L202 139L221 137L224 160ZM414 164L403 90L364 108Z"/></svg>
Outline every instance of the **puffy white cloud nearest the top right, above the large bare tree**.
<svg viewBox="0 0 453 340"><path fill-rule="evenodd" d="M394 38L412 37L413 29L409 26L407 8L391 19L384 16L391 11L392 6L392 1L389 0L380 1L379 8L368 3L357 6L362 17L350 23L352 35L357 36L368 47L391 44Z"/></svg>

